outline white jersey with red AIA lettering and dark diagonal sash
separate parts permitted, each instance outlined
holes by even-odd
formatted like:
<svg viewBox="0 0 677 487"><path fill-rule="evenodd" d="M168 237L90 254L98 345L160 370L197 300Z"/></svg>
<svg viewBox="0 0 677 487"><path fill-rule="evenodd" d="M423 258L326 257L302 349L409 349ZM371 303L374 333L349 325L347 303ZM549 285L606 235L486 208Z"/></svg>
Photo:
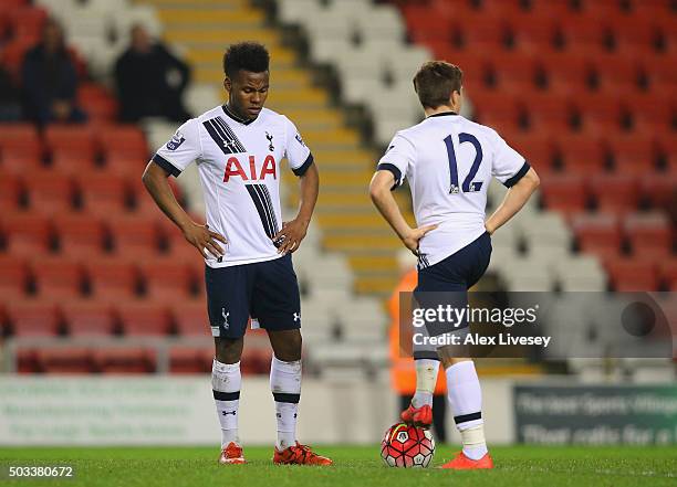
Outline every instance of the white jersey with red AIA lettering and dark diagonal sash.
<svg viewBox="0 0 677 487"><path fill-rule="evenodd" d="M282 227L280 161L302 176L313 156L289 118L263 108L242 120L218 106L179 127L153 160L173 176L196 161L205 193L207 224L228 240L210 267L281 257L272 237Z"/></svg>

